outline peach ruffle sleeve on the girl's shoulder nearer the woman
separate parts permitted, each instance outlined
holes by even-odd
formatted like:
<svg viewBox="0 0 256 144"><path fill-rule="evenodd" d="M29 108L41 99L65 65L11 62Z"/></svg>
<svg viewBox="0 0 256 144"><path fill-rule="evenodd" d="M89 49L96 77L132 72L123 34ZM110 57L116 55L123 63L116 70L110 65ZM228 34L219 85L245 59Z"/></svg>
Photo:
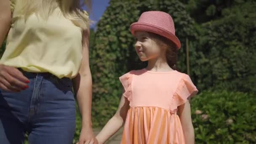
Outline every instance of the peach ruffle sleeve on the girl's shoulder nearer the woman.
<svg viewBox="0 0 256 144"><path fill-rule="evenodd" d="M133 71L126 73L125 75L122 75L121 77L119 77L120 82L123 85L123 88L125 90L125 92L123 93L123 95L129 100L132 100L132 90L131 90L131 83L132 83L132 79L133 79Z"/></svg>

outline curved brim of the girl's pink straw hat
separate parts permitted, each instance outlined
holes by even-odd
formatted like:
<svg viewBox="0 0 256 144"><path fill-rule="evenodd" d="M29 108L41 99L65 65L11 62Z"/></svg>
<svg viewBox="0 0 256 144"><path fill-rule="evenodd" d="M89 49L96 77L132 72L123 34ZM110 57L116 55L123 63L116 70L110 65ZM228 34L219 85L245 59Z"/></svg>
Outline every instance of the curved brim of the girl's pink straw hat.
<svg viewBox="0 0 256 144"><path fill-rule="evenodd" d="M179 41L178 37L173 35L168 30L157 27L155 25L146 24L146 23L142 23L142 22L135 22L135 23L131 24L130 30L131 30L131 34L133 36L136 31L146 31L146 32L152 32L152 33L155 33L158 35L162 35L163 37L166 37L169 40L173 41L173 43L175 43L177 49L181 48L181 42Z"/></svg>

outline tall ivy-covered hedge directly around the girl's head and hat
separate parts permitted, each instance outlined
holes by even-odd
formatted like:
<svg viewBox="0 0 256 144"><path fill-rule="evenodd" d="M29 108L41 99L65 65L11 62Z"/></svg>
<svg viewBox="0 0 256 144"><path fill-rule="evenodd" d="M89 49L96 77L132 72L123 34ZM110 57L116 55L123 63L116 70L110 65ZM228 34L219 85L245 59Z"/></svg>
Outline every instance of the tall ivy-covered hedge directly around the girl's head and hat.
<svg viewBox="0 0 256 144"><path fill-rule="evenodd" d="M111 0L98 23L95 45L91 53L93 73L93 117L96 126L103 125L114 114L118 106L122 87L118 77L131 69L141 69L141 63L134 51L134 40L129 32L130 24L144 11L161 10L173 13L176 31L183 47L179 52L179 69L186 70L184 43L186 37L195 37L194 21L178 0ZM195 53L191 48L191 54ZM99 121L100 120L100 121Z"/></svg>

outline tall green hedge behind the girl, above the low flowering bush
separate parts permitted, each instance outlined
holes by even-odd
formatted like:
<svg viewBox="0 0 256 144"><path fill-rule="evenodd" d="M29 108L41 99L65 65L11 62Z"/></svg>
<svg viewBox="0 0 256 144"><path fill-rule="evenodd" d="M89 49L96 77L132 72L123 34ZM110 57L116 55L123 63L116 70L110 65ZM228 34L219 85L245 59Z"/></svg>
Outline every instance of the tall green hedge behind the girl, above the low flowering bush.
<svg viewBox="0 0 256 144"><path fill-rule="evenodd" d="M199 2L200 0L197 0ZM202 9L198 6L196 8ZM207 16L211 18L207 4ZM190 3L191 6L191 3ZM228 89L256 93L256 3L251 0L217 3L214 20L195 23L178 0L111 0L97 24L91 51L94 125L100 126L114 114L121 94L120 75L141 69L129 26L144 11L158 10L173 16L181 40L178 68L186 72L185 38L189 39L190 77L200 90ZM203 8L204 9L204 8Z"/></svg>

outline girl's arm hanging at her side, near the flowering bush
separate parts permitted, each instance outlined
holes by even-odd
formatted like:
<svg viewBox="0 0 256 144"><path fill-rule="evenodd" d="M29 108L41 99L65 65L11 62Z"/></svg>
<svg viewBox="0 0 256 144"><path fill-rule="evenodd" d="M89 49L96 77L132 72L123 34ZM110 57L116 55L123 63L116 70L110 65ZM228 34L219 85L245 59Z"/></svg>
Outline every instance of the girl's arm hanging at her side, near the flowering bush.
<svg viewBox="0 0 256 144"><path fill-rule="evenodd" d="M185 104L180 105L178 107L178 112L186 144L195 144L195 133L191 119L190 101L187 100Z"/></svg>

